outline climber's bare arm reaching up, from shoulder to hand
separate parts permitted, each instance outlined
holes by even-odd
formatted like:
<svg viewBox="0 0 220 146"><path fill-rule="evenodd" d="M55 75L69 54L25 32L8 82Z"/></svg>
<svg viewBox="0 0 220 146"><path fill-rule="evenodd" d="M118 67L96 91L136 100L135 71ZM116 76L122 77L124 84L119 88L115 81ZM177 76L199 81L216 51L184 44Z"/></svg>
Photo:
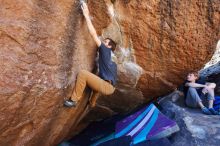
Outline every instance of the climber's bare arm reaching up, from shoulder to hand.
<svg viewBox="0 0 220 146"><path fill-rule="evenodd" d="M98 35L97 35L96 30L95 30L95 28L92 24L92 21L89 18L89 9L87 7L87 4L85 2L83 2L81 8L82 8L82 11L83 11L83 15L86 19L86 23L87 23L89 32L92 35L92 38L96 42L97 46L100 47L101 46L101 40L98 38Z"/></svg>

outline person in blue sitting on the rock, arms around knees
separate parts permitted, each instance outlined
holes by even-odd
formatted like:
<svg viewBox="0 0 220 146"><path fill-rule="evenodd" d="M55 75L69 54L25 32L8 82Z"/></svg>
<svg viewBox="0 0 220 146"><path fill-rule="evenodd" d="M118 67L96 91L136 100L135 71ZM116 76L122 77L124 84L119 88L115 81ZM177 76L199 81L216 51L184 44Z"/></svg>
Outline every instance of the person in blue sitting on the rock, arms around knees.
<svg viewBox="0 0 220 146"><path fill-rule="evenodd" d="M202 109L202 112L207 115L219 115L219 113L213 108L215 87L215 83L207 83L204 79L199 78L197 72L189 72L184 83L186 105L193 108L199 106ZM204 106L206 101L208 102L208 108Z"/></svg>

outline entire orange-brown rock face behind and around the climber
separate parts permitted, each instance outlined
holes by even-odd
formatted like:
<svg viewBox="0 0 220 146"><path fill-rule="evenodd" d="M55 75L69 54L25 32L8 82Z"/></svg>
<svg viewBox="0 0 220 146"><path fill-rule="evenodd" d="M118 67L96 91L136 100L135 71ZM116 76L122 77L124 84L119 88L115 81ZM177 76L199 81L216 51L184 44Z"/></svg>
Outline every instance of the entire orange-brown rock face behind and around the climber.
<svg viewBox="0 0 220 146"><path fill-rule="evenodd" d="M95 64L95 43L79 1L0 3L0 145L55 145L79 128L89 111L89 92L76 109L62 105L78 71L92 71ZM134 76L132 83L122 83L128 88L137 85L146 98L169 92L186 71L201 68L220 36L218 0L93 0L88 4L98 34L111 36L130 51L126 65L136 63L143 69L140 80L129 73ZM122 54L119 50L116 54ZM110 107L125 111L114 105L129 101L113 99L117 104ZM108 100L103 101L107 105Z"/></svg>

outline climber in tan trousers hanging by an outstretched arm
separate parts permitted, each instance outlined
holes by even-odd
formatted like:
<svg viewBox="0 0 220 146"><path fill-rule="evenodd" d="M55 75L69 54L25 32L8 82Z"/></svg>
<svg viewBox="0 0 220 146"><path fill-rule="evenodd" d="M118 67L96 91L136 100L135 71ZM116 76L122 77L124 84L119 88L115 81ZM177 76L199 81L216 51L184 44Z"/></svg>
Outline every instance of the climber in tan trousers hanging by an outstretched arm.
<svg viewBox="0 0 220 146"><path fill-rule="evenodd" d="M89 71L81 70L77 75L76 85L70 99L64 101L64 105L67 107L76 107L86 86L93 90L93 95L90 99L91 106L94 106L96 103L97 93L110 95L115 91L114 86L116 84L117 65L111 60L111 51L115 50L116 43L110 38L106 38L103 42L101 42L90 20L89 10L85 2L82 2L81 9L83 11L89 33L98 46L99 75L97 76Z"/></svg>

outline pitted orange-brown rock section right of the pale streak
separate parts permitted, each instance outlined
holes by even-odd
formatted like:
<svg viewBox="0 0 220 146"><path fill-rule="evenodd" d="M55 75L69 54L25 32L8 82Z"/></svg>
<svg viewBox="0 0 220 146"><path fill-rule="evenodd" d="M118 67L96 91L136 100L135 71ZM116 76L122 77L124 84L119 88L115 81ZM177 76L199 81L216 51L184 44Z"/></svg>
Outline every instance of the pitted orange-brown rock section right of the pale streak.
<svg viewBox="0 0 220 146"><path fill-rule="evenodd" d="M209 60L220 35L219 7L218 0L115 1L122 44L145 70L138 82L144 96L166 94Z"/></svg>

